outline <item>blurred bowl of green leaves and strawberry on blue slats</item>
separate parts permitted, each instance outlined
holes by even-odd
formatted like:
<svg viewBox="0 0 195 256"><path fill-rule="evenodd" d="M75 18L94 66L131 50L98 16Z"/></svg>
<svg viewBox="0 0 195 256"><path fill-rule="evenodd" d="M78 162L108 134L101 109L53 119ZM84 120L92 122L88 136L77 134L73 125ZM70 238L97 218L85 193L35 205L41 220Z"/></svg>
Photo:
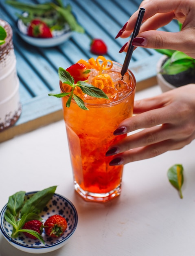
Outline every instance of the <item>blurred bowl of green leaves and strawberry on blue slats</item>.
<svg viewBox="0 0 195 256"><path fill-rule="evenodd" d="M27 43L38 47L53 47L64 43L73 32L84 33L70 4L62 0L32 4L7 0L7 4L20 9L17 13L18 34Z"/></svg>

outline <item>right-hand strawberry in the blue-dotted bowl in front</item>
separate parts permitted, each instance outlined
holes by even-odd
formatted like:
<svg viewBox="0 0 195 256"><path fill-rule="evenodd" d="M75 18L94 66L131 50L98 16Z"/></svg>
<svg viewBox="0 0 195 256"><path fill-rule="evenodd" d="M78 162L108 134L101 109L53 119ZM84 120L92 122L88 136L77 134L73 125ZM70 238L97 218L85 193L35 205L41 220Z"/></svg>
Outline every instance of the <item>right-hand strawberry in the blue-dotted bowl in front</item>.
<svg viewBox="0 0 195 256"><path fill-rule="evenodd" d="M50 237L60 237L64 234L64 231L67 229L66 219L58 214L50 216L45 224L45 233Z"/></svg>

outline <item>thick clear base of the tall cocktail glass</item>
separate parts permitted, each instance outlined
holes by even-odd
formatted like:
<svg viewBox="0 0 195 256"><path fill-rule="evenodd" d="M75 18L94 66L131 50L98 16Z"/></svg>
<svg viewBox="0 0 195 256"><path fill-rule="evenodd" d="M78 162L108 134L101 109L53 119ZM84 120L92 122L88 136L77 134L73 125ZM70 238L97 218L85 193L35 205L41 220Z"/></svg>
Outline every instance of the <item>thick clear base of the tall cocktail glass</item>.
<svg viewBox="0 0 195 256"><path fill-rule="evenodd" d="M77 182L74 182L74 189L81 195L83 199L86 201L91 201L91 202L107 202L110 201L113 198L116 198L116 196L121 194L121 184L116 187L116 189L113 189L110 192L107 193L92 193L89 191L85 191L81 189L79 184Z"/></svg>

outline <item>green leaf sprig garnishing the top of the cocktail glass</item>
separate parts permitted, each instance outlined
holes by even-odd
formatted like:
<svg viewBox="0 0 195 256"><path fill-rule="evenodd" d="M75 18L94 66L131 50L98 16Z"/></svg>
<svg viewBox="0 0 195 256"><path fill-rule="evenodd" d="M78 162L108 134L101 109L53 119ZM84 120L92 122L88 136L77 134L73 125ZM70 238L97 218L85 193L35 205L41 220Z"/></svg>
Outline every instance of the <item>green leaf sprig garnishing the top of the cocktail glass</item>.
<svg viewBox="0 0 195 256"><path fill-rule="evenodd" d="M89 71L87 71L87 72L89 72ZM76 88L76 86L81 88L82 92L89 96L92 96L95 98L109 99L107 97L107 95L105 94L105 92L103 92L103 90L95 87L94 85L92 85L90 83L86 83L85 81L78 81L77 83L74 83L74 77L71 76L70 73L68 71L66 71L63 67L59 67L58 75L59 75L60 81L62 83L66 83L66 84L70 85L72 87L72 90L71 90L71 92L63 92L63 93L59 93L59 94L49 93L48 95L54 96L57 98L62 98L62 97L69 95L68 101L66 102L66 107L68 107L68 108L70 107L70 103L73 98L74 101L79 106L79 108L81 108L83 110L89 110L85 106L84 101L78 95L74 94L74 89Z"/></svg>

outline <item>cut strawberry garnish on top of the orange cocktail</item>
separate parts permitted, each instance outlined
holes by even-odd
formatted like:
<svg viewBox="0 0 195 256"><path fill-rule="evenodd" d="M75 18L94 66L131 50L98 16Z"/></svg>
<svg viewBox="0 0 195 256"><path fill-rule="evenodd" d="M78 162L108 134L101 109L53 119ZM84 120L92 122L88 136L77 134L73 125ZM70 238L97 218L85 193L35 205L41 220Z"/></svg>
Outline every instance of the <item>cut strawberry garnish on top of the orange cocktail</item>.
<svg viewBox="0 0 195 256"><path fill-rule="evenodd" d="M90 70L87 70L84 64L75 63L66 69L74 78L74 83L78 81L85 81L88 79Z"/></svg>

